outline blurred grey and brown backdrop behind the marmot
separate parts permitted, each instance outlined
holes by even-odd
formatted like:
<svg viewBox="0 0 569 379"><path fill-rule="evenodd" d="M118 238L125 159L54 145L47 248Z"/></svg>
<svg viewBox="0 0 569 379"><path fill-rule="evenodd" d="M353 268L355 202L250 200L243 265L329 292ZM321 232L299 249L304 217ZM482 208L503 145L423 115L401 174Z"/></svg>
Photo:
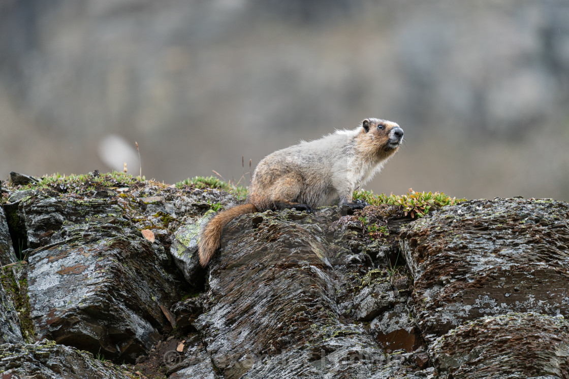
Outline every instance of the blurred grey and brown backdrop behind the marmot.
<svg viewBox="0 0 569 379"><path fill-rule="evenodd" d="M138 174L137 141L237 181L377 116L406 144L368 189L567 201L568 103L564 0L0 0L3 179Z"/></svg>

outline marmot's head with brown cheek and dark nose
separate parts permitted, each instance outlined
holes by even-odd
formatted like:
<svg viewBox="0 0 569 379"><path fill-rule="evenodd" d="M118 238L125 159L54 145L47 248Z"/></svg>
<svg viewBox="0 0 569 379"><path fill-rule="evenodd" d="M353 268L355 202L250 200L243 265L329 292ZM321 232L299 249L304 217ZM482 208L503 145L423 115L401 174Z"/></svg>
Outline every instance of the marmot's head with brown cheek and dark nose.
<svg viewBox="0 0 569 379"><path fill-rule="evenodd" d="M361 122L365 149L370 152L382 152L391 155L397 151L403 141L403 129L398 124L377 118L366 118Z"/></svg>

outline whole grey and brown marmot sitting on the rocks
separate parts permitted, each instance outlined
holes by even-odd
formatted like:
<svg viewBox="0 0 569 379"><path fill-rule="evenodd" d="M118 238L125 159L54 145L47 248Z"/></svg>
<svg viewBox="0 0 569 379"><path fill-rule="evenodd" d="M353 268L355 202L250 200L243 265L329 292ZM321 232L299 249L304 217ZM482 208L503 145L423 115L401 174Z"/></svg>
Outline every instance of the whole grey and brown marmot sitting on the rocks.
<svg viewBox="0 0 569 379"><path fill-rule="evenodd" d="M338 199L341 206L362 209L365 203L352 201L354 189L381 170L402 140L398 124L369 118L354 130L337 131L267 155L255 168L247 202L222 211L201 231L201 265L209 263L223 228L239 215L286 208L312 212Z"/></svg>

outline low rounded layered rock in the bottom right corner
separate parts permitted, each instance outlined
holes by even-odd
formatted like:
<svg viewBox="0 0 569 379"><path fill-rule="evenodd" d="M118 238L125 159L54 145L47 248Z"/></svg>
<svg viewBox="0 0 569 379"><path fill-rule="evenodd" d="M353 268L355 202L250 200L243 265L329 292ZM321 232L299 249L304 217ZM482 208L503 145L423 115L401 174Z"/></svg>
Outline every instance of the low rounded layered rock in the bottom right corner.
<svg viewBox="0 0 569 379"><path fill-rule="evenodd" d="M567 378L569 323L563 316L485 316L432 344L441 377Z"/></svg>

